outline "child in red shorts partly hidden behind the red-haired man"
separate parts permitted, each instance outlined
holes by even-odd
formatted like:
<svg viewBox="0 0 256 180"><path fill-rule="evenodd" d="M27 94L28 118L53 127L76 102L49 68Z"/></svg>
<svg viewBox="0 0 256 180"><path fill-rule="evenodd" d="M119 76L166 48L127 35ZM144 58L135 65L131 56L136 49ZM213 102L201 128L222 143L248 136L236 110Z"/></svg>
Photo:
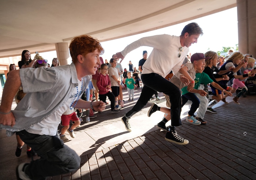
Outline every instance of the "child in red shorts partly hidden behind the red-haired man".
<svg viewBox="0 0 256 180"><path fill-rule="evenodd" d="M69 127L70 120L74 122L71 127ZM60 139L62 139L64 142L68 142L69 139L66 138L65 132L68 131L69 135L72 138L75 138L74 129L80 125L80 120L74 110L74 108L69 109L63 113L61 116L61 124L64 126L60 131Z"/></svg>

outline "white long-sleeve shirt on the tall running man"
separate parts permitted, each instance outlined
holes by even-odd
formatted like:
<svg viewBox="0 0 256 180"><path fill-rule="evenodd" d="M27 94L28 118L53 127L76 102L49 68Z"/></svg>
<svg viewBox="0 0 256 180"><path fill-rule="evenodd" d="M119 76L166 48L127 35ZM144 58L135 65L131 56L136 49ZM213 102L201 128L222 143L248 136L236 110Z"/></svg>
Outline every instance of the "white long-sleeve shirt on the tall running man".
<svg viewBox="0 0 256 180"><path fill-rule="evenodd" d="M189 52L189 48L184 46L181 56L178 57L181 47L180 37L162 34L141 38L125 47L121 54L125 57L140 46L153 47L147 61L143 64L142 74L157 73L162 77L167 76L171 70L177 74Z"/></svg>

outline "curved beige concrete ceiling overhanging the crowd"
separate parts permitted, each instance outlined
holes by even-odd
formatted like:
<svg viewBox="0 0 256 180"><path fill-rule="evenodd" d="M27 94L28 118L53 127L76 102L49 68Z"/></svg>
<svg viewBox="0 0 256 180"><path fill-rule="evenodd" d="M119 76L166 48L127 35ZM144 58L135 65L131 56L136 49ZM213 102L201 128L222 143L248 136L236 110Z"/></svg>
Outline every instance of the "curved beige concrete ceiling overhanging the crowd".
<svg viewBox="0 0 256 180"><path fill-rule="evenodd" d="M0 0L0 58L55 50L82 34L101 42L127 37L233 7L236 0Z"/></svg>

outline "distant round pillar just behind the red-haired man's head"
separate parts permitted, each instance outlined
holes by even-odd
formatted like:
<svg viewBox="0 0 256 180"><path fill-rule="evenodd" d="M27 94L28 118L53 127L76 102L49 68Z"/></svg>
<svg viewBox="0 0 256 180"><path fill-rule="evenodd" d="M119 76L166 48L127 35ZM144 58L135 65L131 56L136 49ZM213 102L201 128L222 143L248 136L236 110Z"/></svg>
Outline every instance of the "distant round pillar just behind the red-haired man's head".
<svg viewBox="0 0 256 180"><path fill-rule="evenodd" d="M60 42L55 44L56 53L58 60L60 62L60 65L67 65L68 58L69 58L69 48L67 42Z"/></svg>

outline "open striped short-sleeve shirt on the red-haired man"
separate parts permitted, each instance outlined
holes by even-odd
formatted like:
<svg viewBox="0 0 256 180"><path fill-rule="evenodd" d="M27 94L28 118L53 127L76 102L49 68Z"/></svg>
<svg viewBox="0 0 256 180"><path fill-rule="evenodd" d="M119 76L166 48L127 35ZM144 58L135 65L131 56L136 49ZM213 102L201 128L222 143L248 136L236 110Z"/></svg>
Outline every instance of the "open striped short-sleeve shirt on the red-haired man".
<svg viewBox="0 0 256 180"><path fill-rule="evenodd" d="M54 114L67 102L72 96L72 90L78 86L74 63L51 68L20 69L20 80L23 91L27 94L12 111L16 119L14 127L0 125L0 129L7 130L7 136L27 129ZM90 77L85 76L82 81L84 91Z"/></svg>

